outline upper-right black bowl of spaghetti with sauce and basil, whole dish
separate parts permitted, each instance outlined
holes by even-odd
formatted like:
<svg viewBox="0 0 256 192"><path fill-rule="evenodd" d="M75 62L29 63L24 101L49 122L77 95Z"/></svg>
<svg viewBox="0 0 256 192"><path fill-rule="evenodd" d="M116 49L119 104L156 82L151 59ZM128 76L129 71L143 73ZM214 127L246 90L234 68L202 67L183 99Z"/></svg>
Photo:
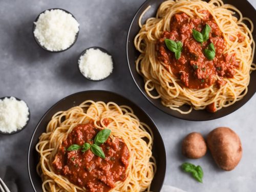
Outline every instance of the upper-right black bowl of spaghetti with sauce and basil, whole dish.
<svg viewBox="0 0 256 192"><path fill-rule="evenodd" d="M126 42L137 87L158 109L181 119L212 120L236 111L256 91L255 13L247 1L146 1Z"/></svg>

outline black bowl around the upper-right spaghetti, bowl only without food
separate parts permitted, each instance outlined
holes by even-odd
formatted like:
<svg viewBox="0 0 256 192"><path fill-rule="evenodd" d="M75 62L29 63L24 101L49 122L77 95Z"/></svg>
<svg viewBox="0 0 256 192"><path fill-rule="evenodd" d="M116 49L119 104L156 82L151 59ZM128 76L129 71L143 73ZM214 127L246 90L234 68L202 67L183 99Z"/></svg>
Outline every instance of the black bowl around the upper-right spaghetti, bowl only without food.
<svg viewBox="0 0 256 192"><path fill-rule="evenodd" d="M138 25L138 19L139 16L142 14L142 12L148 7L151 6L151 8L145 13L143 16L142 22L145 22L146 18L149 17L155 17L156 12L158 7L160 6L161 3L163 3L164 0L147 0L137 11L135 14L128 35L127 35L127 41L126 41L126 55L127 55L127 60L129 64L129 69L130 72L133 76L133 80L136 83L138 89L141 91L141 93L147 98L148 101L150 101L153 105L156 106L156 108L162 110L163 112L172 115L174 117L180 118L180 119L185 119L185 120L191 120L191 121L206 121L206 120L212 120L212 119L218 119L220 117L226 116L239 108L243 106L256 92L256 86L253 84L253 82L256 82L256 72L253 71L250 75L250 84L248 86L248 93L244 96L244 98L240 101L237 101L231 106L228 106L227 108L222 108L221 110L217 111L216 113L209 113L206 110L193 110L189 114L181 114L178 111L171 110L167 108L166 106L161 104L160 99L152 99L147 95L144 89L144 80L143 77L140 76L135 68L135 61L139 56L139 52L136 50L134 46L134 38L137 35L137 33L140 30L140 27ZM242 12L243 16L249 17L254 26L256 25L256 11L252 7L252 5L248 1L240 1L240 0L224 0L223 1L225 4L231 4ZM252 33L254 40L256 40L256 30L253 31ZM256 52L254 53L254 63L256 61ZM153 92L154 94L154 92ZM157 95L157 92L155 91L155 94ZM188 106L181 106L180 109L182 110L188 110Z"/></svg>

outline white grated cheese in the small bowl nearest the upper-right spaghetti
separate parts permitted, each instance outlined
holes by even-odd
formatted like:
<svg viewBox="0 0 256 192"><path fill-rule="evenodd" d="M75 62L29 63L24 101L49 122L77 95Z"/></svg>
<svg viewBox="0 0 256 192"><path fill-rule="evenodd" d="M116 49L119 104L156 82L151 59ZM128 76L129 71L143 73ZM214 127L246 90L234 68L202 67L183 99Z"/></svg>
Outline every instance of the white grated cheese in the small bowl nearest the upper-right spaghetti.
<svg viewBox="0 0 256 192"><path fill-rule="evenodd" d="M113 71L112 57L99 49L87 50L78 63L81 73L91 80L104 79Z"/></svg>

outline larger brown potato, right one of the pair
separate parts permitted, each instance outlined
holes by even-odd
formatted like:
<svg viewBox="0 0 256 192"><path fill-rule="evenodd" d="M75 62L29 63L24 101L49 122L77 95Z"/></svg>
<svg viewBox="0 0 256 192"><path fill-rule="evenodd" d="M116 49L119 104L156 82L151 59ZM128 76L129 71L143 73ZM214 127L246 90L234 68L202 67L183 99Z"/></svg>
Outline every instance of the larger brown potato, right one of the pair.
<svg viewBox="0 0 256 192"><path fill-rule="evenodd" d="M239 136L228 127L218 127L207 136L207 146L218 166L232 170L242 158L242 144Z"/></svg>

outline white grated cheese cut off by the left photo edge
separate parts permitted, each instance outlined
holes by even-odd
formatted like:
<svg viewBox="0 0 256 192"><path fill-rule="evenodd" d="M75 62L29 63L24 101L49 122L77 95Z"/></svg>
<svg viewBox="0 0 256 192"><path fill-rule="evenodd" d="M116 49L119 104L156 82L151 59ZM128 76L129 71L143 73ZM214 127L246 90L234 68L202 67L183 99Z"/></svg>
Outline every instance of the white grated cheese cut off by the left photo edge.
<svg viewBox="0 0 256 192"><path fill-rule="evenodd" d="M18 101L14 97L0 100L0 131L11 133L22 129L28 116L29 108L24 101Z"/></svg>

